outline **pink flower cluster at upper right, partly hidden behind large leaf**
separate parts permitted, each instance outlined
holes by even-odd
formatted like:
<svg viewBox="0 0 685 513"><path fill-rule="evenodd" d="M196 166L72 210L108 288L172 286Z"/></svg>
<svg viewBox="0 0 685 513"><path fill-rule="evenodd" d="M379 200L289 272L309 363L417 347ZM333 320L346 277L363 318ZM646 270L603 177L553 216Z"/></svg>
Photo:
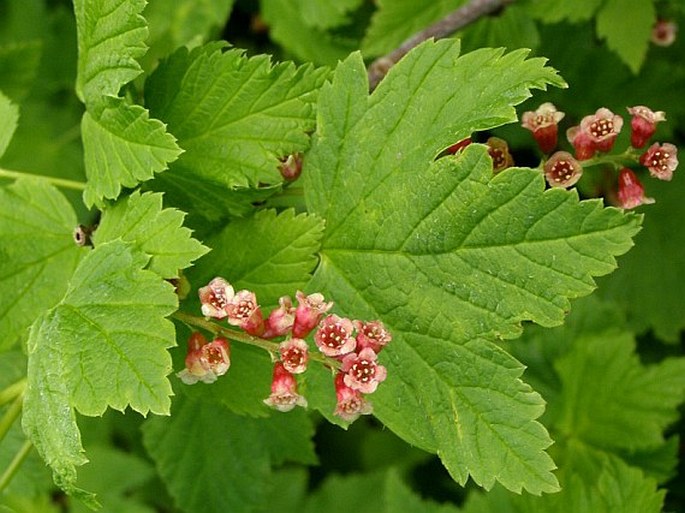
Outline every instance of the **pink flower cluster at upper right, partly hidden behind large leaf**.
<svg viewBox="0 0 685 513"><path fill-rule="evenodd" d="M558 143L559 122L565 114L552 103L543 103L537 110L525 112L521 125L532 132L545 155L541 169L551 187L569 188L580 180L585 168L610 166L618 172L618 178L617 185L607 194L608 199L629 209L654 203L654 199L645 196L644 187L633 168L646 168L653 178L670 181L678 167L678 148L670 143L655 142L645 149L656 132L657 123L666 120L663 112L638 105L628 107L628 113L631 115L630 147L621 154L610 155L609 152L614 149L623 128L623 118L604 107L583 117L580 124L567 130L566 137L573 147L573 155L567 151L554 151ZM470 143L470 137L463 139L446 152L457 153ZM506 141L490 137L486 144L495 174L514 165Z"/></svg>

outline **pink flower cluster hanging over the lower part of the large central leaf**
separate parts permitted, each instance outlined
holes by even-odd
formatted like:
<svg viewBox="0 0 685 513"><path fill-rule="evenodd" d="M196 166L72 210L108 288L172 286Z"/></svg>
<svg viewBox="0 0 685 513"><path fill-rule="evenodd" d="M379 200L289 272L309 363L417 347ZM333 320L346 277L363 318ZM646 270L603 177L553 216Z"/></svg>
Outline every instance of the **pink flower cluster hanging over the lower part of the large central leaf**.
<svg viewBox="0 0 685 513"><path fill-rule="evenodd" d="M254 292L236 292L220 277L200 288L199 296L206 318L226 319L229 325L262 341L282 338L273 347L271 394L265 404L283 412L307 406L307 400L298 393L296 375L307 370L310 354L305 338L313 332L314 344L322 355L320 361L334 371L334 414L352 422L371 413L366 396L376 391L387 374L378 363L378 353L392 338L382 322L329 314L333 302L325 301L320 293L305 295L300 291L296 307L290 297L283 296L265 319ZM230 337L227 330L221 333ZM228 372L230 364L230 345L224 336L207 342L196 332L188 341L185 369L177 375L187 384L212 383Z"/></svg>

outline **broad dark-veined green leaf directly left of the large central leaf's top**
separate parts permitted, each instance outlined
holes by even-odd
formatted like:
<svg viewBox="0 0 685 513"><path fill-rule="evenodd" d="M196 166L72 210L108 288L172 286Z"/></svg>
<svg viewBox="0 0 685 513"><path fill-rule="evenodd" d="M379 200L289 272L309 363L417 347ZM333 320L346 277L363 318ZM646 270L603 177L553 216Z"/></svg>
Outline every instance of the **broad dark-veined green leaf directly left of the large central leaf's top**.
<svg viewBox="0 0 685 513"><path fill-rule="evenodd" d="M278 159L309 145L327 72L223 46L181 48L160 64L145 89L150 112L185 150L176 171L226 188L279 183Z"/></svg>

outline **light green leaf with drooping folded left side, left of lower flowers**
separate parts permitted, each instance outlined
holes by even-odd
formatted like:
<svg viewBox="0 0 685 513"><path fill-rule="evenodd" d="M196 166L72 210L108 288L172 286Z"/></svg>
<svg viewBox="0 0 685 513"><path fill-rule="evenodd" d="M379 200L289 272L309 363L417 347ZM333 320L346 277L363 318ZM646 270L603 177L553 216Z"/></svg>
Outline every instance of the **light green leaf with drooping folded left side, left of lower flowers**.
<svg viewBox="0 0 685 513"><path fill-rule="evenodd" d="M22 425L67 493L76 488L83 455L74 408L102 415L109 406L168 414L171 372L167 349L176 309L173 288L142 270L146 258L120 240L81 261L60 303L39 317L28 341L28 387Z"/></svg>

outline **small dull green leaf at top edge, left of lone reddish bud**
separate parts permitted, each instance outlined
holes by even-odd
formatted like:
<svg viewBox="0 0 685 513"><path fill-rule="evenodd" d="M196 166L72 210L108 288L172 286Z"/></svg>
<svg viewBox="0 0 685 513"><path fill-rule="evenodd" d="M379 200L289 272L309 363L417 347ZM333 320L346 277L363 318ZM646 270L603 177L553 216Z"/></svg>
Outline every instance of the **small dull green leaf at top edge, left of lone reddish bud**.
<svg viewBox="0 0 685 513"><path fill-rule="evenodd" d="M597 35L637 73L647 55L655 22L652 0L607 0L597 13Z"/></svg>

